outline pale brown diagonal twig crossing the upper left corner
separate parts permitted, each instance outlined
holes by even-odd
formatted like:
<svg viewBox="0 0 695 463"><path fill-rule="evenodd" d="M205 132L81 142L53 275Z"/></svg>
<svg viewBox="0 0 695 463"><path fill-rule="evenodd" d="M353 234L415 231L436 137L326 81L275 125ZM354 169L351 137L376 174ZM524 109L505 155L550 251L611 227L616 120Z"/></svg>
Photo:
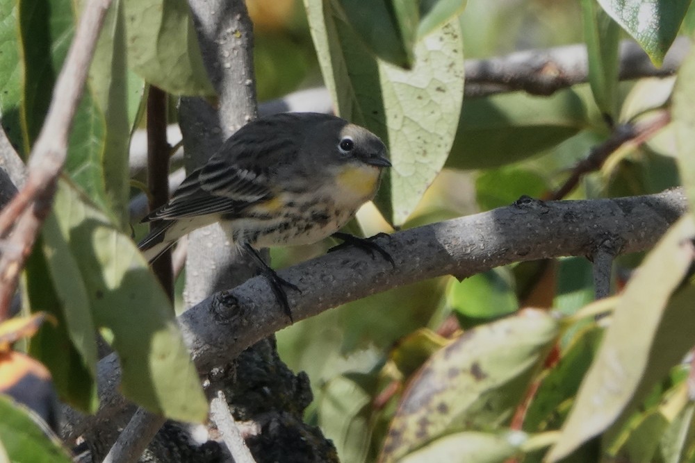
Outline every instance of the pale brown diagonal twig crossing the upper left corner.
<svg viewBox="0 0 695 463"><path fill-rule="evenodd" d="M97 37L111 0L85 3L75 37L54 89L51 106L33 146L26 185L0 213L0 320L7 317L19 271L47 216L67 155L67 137L87 79Z"/></svg>

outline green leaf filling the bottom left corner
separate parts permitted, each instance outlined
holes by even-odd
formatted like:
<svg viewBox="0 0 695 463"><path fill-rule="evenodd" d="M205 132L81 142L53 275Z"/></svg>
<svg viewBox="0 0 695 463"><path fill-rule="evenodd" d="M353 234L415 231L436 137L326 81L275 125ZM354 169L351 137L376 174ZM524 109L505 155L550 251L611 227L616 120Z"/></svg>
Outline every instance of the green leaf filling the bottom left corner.
<svg viewBox="0 0 695 463"><path fill-rule="evenodd" d="M0 395L0 461L4 450L9 462L71 463L70 454L60 445L60 440L48 437L30 413Z"/></svg>

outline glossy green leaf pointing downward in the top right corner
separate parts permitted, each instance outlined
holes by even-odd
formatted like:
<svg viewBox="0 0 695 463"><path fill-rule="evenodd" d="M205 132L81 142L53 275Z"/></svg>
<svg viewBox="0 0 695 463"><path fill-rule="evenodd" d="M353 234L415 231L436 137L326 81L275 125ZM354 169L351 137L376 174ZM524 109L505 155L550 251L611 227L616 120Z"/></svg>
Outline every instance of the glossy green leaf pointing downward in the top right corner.
<svg viewBox="0 0 695 463"><path fill-rule="evenodd" d="M690 0L598 0L600 6L660 66L678 35Z"/></svg>

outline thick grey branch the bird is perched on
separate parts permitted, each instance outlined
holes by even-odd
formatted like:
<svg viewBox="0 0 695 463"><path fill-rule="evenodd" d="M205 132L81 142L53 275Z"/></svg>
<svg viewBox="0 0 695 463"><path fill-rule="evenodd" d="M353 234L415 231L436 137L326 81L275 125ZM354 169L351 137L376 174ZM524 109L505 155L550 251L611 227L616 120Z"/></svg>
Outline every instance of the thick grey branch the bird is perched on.
<svg viewBox="0 0 695 463"><path fill-rule="evenodd" d="M520 199L514 205L405 230L379 239L396 262L373 260L359 250L329 253L280 271L302 293L289 292L295 320L306 319L376 292L427 278L458 278L512 262L595 255L606 237L621 253L644 251L687 210L680 189L649 196L589 201ZM211 322L213 321L213 322ZM179 317L179 325L199 371L227 364L248 346L288 326L289 320L263 278L218 292ZM96 423L126 409L116 387L115 356L99 362L96 416L66 410L63 435L75 439Z"/></svg>

